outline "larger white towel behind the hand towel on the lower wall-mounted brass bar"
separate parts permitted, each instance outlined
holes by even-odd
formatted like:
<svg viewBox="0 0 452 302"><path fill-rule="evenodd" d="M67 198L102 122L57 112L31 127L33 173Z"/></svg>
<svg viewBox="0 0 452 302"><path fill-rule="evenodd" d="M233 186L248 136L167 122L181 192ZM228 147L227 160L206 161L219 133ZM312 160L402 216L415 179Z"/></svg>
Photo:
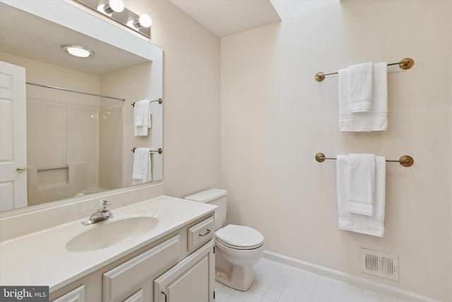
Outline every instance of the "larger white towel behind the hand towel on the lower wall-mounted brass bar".
<svg viewBox="0 0 452 302"><path fill-rule="evenodd" d="M386 195L386 161L383 156L375 156L375 190L374 214L366 216L348 211L349 199L348 170L350 169L349 156L338 156L336 170L336 188L338 192L338 225L341 230L369 234L383 237Z"/></svg>

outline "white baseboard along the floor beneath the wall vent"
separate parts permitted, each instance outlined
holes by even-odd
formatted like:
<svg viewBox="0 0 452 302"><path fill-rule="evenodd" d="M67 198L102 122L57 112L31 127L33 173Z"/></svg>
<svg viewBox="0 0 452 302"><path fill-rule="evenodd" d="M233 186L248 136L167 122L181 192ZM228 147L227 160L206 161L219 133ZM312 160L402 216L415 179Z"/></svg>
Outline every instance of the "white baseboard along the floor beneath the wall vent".
<svg viewBox="0 0 452 302"><path fill-rule="evenodd" d="M322 267L320 265L314 265L309 262L304 262L292 257L287 257L285 255L280 255L275 252L270 252L269 250L263 251L263 257L275 262L283 263L285 265L290 265L291 267L297 267L299 269L304 269L308 272L313 272L314 274L319 274L323 277L328 277L338 281L343 281L348 284L359 286L362 289L368 289L369 291L375 291L376 293L383 294L386 296L391 296L393 298L398 298L400 300L409 302L441 302L435 300L434 298L429 298L426 296L421 296L419 294L412 293L410 291L405 291L403 289L398 289L393 286L388 286L386 284L380 284L367 279L358 278L345 272L340 272L335 269L329 269L328 267Z"/></svg>

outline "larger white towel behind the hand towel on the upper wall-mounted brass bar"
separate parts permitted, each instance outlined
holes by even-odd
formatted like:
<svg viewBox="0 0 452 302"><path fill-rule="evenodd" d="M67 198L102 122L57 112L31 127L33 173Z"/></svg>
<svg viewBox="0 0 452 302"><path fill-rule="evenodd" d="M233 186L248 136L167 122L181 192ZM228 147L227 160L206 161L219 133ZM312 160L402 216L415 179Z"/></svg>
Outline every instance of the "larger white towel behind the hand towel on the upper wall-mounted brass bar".
<svg viewBox="0 0 452 302"><path fill-rule="evenodd" d="M348 69L340 69L339 129L340 131L371 132L388 129L388 81L387 64L374 64L373 93L369 112L350 112L350 87Z"/></svg>

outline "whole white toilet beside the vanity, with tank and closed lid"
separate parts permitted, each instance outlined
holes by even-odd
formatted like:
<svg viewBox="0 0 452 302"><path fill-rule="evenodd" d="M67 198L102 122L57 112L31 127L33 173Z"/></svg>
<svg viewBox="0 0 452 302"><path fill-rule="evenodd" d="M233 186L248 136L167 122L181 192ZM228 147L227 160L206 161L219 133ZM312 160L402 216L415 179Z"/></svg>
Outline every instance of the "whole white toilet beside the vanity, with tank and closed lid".
<svg viewBox="0 0 452 302"><path fill-rule="evenodd" d="M215 280L247 291L254 282L252 265L263 254L263 235L248 226L229 224L226 219L227 191L210 189L185 197L195 202L208 202L215 209Z"/></svg>

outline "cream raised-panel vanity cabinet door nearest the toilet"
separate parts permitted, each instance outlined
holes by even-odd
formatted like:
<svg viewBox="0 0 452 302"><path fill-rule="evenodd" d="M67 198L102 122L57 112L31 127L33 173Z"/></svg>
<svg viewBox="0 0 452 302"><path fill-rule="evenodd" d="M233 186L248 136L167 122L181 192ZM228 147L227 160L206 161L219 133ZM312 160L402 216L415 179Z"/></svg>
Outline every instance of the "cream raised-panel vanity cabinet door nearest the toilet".
<svg viewBox="0 0 452 302"><path fill-rule="evenodd" d="M213 241L154 280L154 302L213 302Z"/></svg>

